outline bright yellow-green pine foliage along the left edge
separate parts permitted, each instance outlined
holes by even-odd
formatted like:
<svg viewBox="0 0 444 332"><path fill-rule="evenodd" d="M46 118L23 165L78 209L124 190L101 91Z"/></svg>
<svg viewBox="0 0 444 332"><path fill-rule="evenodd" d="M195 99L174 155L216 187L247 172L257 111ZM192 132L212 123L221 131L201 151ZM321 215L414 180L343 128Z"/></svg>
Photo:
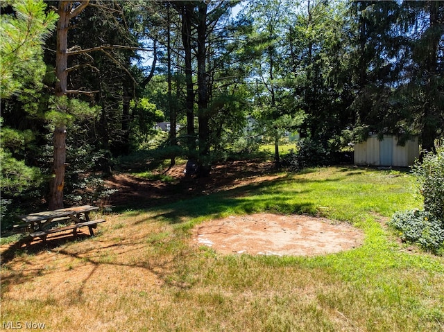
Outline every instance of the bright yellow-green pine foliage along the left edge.
<svg viewBox="0 0 444 332"><path fill-rule="evenodd" d="M28 96L40 93L45 65L42 45L56 24L54 12L45 13L43 1L16 0L1 3L0 21L0 86L3 116L14 117L10 107L19 103L26 107ZM0 218L7 214L11 198L21 195L26 189L42 180L37 167L26 164L25 149L34 139L31 130L19 130L19 123L11 128L0 118Z"/></svg>

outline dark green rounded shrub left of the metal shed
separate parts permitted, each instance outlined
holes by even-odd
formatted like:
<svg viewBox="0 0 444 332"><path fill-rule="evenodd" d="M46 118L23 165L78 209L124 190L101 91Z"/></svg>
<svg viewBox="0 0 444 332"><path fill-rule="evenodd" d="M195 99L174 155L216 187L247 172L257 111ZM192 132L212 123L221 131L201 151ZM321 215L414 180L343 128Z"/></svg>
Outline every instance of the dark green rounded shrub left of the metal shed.
<svg viewBox="0 0 444 332"><path fill-rule="evenodd" d="M282 166L295 172L307 167L325 166L329 163L330 151L322 143L312 139L300 139L296 143L296 152L290 150L289 154L282 158Z"/></svg>

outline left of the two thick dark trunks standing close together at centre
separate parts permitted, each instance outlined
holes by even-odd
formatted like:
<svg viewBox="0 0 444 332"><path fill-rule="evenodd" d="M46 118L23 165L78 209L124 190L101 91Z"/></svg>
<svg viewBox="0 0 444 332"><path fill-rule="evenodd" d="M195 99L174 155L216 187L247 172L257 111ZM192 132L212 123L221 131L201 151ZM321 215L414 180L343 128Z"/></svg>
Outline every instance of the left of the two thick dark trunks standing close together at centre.
<svg viewBox="0 0 444 332"><path fill-rule="evenodd" d="M185 99L185 110L187 112L187 145L189 157L193 157L196 150L194 133L194 85L193 70L191 68L191 16L193 15L193 5L184 4L182 6L182 44L185 51L185 85L187 86L187 97Z"/></svg>

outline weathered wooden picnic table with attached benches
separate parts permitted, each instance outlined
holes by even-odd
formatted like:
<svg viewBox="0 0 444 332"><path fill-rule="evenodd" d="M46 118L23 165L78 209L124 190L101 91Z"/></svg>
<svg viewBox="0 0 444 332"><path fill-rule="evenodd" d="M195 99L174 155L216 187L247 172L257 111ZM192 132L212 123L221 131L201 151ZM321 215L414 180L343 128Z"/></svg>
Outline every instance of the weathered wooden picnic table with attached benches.
<svg viewBox="0 0 444 332"><path fill-rule="evenodd" d="M104 219L89 220L89 213L98 209L99 207L83 205L81 207L68 207L66 209L26 214L19 216L22 223L14 227L17 229L24 228L29 232L31 238L38 237L43 241L46 241L46 236L49 234L68 229L72 229L74 236L77 236L77 229L80 227L88 227L89 234L94 236L93 229L100 222L105 222Z"/></svg>

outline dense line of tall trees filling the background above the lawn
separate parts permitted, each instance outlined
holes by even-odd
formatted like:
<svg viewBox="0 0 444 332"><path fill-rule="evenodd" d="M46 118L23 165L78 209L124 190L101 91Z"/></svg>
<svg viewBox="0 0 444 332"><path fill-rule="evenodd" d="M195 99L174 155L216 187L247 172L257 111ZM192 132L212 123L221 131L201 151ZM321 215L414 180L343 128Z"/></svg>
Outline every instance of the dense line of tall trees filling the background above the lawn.
<svg viewBox="0 0 444 332"><path fill-rule="evenodd" d="M443 36L444 1L2 1L2 215L94 200L159 121L160 157L203 177L265 138L279 166L294 130L332 152L370 133L435 151Z"/></svg>

